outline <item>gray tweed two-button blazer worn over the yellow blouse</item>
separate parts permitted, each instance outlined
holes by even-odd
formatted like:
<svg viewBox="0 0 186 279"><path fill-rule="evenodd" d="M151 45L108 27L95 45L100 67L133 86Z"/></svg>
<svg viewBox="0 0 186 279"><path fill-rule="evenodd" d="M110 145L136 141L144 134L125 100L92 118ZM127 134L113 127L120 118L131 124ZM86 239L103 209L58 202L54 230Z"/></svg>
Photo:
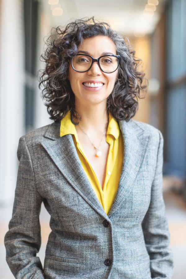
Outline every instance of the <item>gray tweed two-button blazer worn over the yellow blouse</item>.
<svg viewBox="0 0 186 279"><path fill-rule="evenodd" d="M124 161L107 215L60 123L20 138L7 263L17 279L170 279L173 261L162 197L161 133L121 121ZM41 203L51 215L44 268Z"/></svg>

